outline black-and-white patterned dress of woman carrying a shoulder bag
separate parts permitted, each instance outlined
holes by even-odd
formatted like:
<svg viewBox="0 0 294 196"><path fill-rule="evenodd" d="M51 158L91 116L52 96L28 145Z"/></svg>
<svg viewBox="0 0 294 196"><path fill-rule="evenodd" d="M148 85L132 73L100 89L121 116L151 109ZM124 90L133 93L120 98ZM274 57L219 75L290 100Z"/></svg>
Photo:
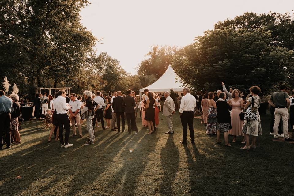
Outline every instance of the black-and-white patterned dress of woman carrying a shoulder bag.
<svg viewBox="0 0 294 196"><path fill-rule="evenodd" d="M253 97L249 97L247 101L251 103ZM260 98L259 96L254 96L254 107L259 108L260 106ZM249 105L251 107L251 104ZM262 135L261 133L261 121L260 121L260 115L257 111L257 118L258 120L244 120L243 129L242 132L244 134L258 136Z"/></svg>

